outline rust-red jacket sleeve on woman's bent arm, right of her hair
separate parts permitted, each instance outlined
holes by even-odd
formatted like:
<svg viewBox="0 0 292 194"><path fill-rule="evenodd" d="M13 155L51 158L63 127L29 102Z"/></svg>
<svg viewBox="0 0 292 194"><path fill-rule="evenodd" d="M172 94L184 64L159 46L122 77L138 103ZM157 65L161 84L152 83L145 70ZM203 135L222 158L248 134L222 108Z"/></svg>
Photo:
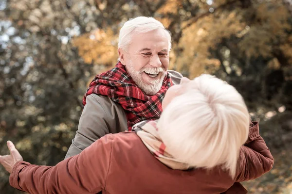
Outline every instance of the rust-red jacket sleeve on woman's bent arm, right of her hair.
<svg viewBox="0 0 292 194"><path fill-rule="evenodd" d="M237 165L236 182L258 178L273 168L274 158L263 138L259 135L258 123L253 122L249 137L241 146Z"/></svg>

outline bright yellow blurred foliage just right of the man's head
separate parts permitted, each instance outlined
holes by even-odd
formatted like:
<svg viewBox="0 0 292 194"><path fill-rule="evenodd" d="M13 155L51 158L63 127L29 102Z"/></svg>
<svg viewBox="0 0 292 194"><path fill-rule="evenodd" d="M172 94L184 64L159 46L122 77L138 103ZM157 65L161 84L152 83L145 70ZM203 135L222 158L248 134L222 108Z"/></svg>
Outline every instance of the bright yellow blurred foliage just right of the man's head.
<svg viewBox="0 0 292 194"><path fill-rule="evenodd" d="M237 12L235 10L221 12L219 16L205 16L186 28L178 45L183 48L183 52L176 58L177 70L181 71L187 66L190 78L201 73L214 73L220 62L211 58L210 48L214 49L222 38L228 38L245 27L245 24L240 22L240 15Z"/></svg>

